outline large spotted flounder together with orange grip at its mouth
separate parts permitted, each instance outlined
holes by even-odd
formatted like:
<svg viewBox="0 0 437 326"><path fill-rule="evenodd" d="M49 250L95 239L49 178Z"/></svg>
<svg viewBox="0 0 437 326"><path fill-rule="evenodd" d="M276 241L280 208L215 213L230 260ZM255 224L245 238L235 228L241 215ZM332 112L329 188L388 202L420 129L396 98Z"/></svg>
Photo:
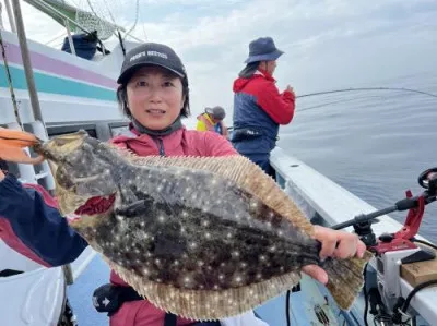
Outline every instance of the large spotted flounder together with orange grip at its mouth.
<svg viewBox="0 0 437 326"><path fill-rule="evenodd" d="M82 131L40 142L0 130L0 138L7 159L37 162L19 148L33 146L49 160L60 212L76 217L70 226L165 311L237 315L297 285L309 264L328 273L341 309L363 287L370 254L321 262L314 226L245 157L139 157Z"/></svg>

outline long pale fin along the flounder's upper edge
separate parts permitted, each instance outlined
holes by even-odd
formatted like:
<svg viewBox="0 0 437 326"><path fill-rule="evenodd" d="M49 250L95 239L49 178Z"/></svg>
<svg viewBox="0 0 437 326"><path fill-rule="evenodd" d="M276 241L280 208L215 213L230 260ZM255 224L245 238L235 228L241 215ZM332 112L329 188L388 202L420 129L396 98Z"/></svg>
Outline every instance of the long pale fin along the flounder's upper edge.
<svg viewBox="0 0 437 326"><path fill-rule="evenodd" d="M240 189L260 198L267 206L286 217L305 233L314 236L314 226L304 216L293 200L260 167L240 155L222 157L191 156L146 156L140 157L129 149L118 148L131 164L145 166L180 167L191 170L210 171L216 176L234 181Z"/></svg>

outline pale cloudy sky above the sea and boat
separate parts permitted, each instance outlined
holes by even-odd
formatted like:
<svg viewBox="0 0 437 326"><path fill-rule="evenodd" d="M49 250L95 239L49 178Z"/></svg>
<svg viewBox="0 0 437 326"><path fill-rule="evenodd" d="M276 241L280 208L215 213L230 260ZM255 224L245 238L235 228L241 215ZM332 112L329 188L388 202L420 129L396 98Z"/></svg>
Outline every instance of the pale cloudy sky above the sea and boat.
<svg viewBox="0 0 437 326"><path fill-rule="evenodd" d="M137 0L67 2L85 9L91 3L127 29L137 17ZM29 38L47 43L62 35L60 25L21 3ZM261 36L273 37L285 52L277 60L276 85L283 90L290 84L296 95L399 86L398 76L437 72L435 0L139 0L138 13L132 34L172 46L185 62L194 116L221 105L231 121L233 81L249 43Z"/></svg>

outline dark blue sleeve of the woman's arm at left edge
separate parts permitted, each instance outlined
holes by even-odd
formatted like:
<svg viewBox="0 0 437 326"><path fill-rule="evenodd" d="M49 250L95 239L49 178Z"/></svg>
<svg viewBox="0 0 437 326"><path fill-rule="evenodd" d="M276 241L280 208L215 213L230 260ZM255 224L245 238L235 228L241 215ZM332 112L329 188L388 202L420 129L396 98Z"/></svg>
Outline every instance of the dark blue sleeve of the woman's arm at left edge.
<svg viewBox="0 0 437 326"><path fill-rule="evenodd" d="M8 174L0 182L0 216L29 250L51 266L60 266L73 262L87 243L47 204L45 195Z"/></svg>

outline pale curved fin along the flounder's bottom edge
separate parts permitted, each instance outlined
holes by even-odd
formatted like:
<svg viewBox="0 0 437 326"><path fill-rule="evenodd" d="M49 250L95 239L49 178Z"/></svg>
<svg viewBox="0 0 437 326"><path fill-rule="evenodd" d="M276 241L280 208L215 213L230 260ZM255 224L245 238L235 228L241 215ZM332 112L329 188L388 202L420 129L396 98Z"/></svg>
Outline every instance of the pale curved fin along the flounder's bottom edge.
<svg viewBox="0 0 437 326"><path fill-rule="evenodd" d="M253 310L300 280L298 273L290 273L247 287L217 290L186 290L145 280L104 257L107 264L142 297L157 307L196 321L221 319Z"/></svg>

